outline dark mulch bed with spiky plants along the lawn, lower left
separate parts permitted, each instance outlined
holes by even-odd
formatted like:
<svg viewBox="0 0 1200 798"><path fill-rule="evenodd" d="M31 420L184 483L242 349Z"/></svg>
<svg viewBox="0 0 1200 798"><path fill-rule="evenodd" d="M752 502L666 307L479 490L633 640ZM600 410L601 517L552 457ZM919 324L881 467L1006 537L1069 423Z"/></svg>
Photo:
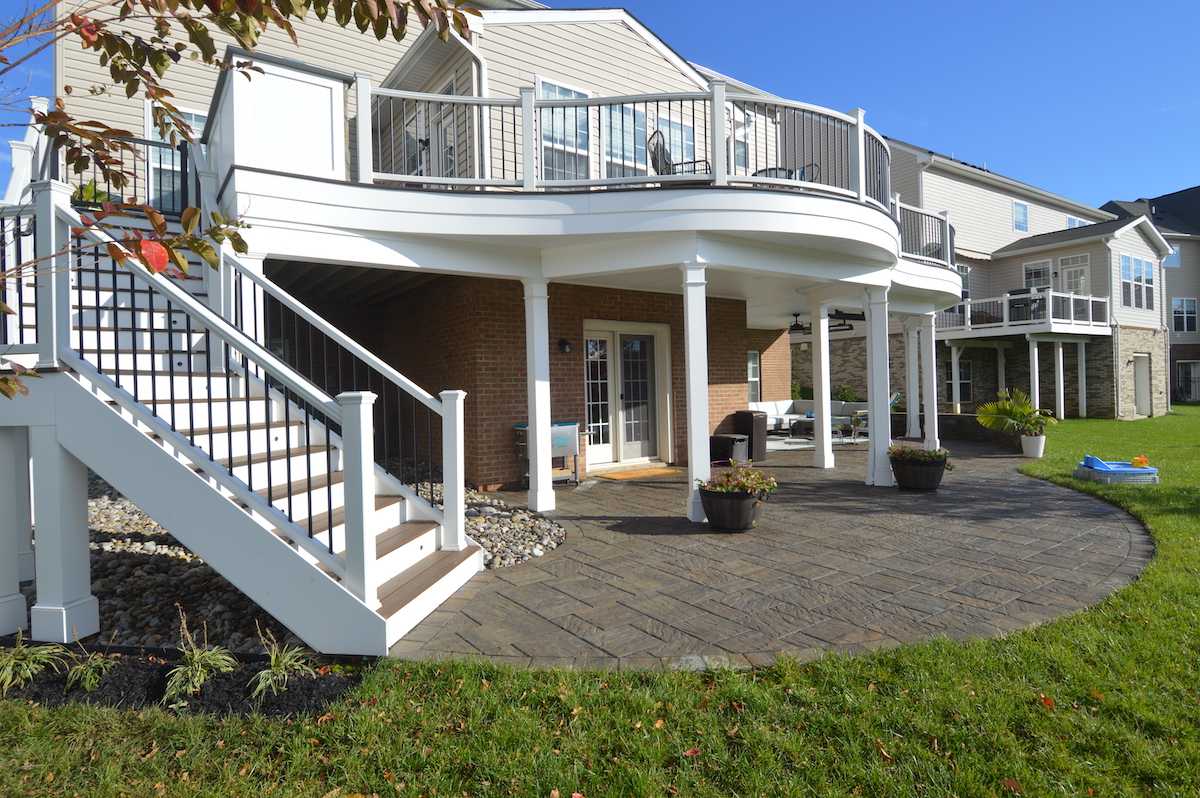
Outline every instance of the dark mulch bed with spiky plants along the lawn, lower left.
<svg viewBox="0 0 1200 798"><path fill-rule="evenodd" d="M61 707L68 703L143 709L163 707L162 696L167 688L167 674L174 662L152 655L115 655L116 665L104 674L96 690L86 692L80 688L67 690L66 672L43 671L30 684L13 689L8 698L31 701L43 707ZM322 665L316 677L293 677L288 688L278 695L268 694L262 703L250 697L250 680L262 671L263 662L240 662L230 673L216 673L200 689L198 696L188 697L182 712L216 715L287 716L323 713L325 708L361 680L361 667L355 665Z"/></svg>

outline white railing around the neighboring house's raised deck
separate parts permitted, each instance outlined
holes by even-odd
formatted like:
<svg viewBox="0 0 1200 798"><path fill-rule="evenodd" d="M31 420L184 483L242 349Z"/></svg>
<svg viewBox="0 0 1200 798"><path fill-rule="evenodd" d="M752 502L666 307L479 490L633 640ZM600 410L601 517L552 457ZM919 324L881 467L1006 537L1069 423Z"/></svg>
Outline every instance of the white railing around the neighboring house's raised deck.
<svg viewBox="0 0 1200 798"><path fill-rule="evenodd" d="M1030 325L1106 328L1109 325L1109 300L1106 296L1040 290L986 299L967 299L961 305L940 311L937 314L937 329L946 331L995 330Z"/></svg>

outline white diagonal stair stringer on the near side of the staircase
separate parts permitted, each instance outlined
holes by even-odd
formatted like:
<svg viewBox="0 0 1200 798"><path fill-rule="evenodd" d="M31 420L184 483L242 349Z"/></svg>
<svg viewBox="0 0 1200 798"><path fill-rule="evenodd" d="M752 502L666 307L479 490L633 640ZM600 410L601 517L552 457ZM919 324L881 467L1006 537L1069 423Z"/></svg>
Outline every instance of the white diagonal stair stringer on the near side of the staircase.
<svg viewBox="0 0 1200 798"><path fill-rule="evenodd" d="M54 384L59 443L318 652L383 656L386 624L341 583L67 374Z"/></svg>

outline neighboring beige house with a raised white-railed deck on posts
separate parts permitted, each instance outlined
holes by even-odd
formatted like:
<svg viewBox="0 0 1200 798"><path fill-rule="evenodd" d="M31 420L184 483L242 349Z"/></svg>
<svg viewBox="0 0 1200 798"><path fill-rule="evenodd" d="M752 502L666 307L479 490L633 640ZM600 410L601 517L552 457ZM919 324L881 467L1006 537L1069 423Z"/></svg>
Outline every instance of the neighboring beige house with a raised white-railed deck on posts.
<svg viewBox="0 0 1200 798"><path fill-rule="evenodd" d="M1168 410L1168 245L1156 224L889 143L893 188L906 203L948 217L966 280L964 302L937 319L943 410L973 412L1004 388L1028 390L1060 418ZM842 335L835 364L859 361L862 341L853 331ZM904 356L900 338L894 330L894 366ZM793 336L793 379L804 386L806 340ZM902 391L898 373L893 388Z"/></svg>

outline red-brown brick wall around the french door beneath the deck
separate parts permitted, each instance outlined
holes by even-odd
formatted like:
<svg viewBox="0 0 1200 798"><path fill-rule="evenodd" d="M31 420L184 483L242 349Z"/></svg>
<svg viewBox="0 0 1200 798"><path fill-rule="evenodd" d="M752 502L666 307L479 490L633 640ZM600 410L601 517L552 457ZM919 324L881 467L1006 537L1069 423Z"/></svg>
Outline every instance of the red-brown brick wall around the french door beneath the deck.
<svg viewBox="0 0 1200 798"><path fill-rule="evenodd" d="M467 391L467 479L487 487L511 485L522 473L512 425L527 416L524 292L520 282L439 277L382 306L322 307L346 319L359 340L425 390ZM748 330L745 302L708 300L709 427L727 428L746 406L746 352L762 353L763 398L787 398L791 359L785 330ZM550 286L551 414L584 421L583 322L602 319L666 324L671 337L671 431L674 461L686 462L683 300L673 294L552 283ZM571 352L559 350L559 340ZM581 440L586 464L586 444ZM665 452L660 452L665 454Z"/></svg>

